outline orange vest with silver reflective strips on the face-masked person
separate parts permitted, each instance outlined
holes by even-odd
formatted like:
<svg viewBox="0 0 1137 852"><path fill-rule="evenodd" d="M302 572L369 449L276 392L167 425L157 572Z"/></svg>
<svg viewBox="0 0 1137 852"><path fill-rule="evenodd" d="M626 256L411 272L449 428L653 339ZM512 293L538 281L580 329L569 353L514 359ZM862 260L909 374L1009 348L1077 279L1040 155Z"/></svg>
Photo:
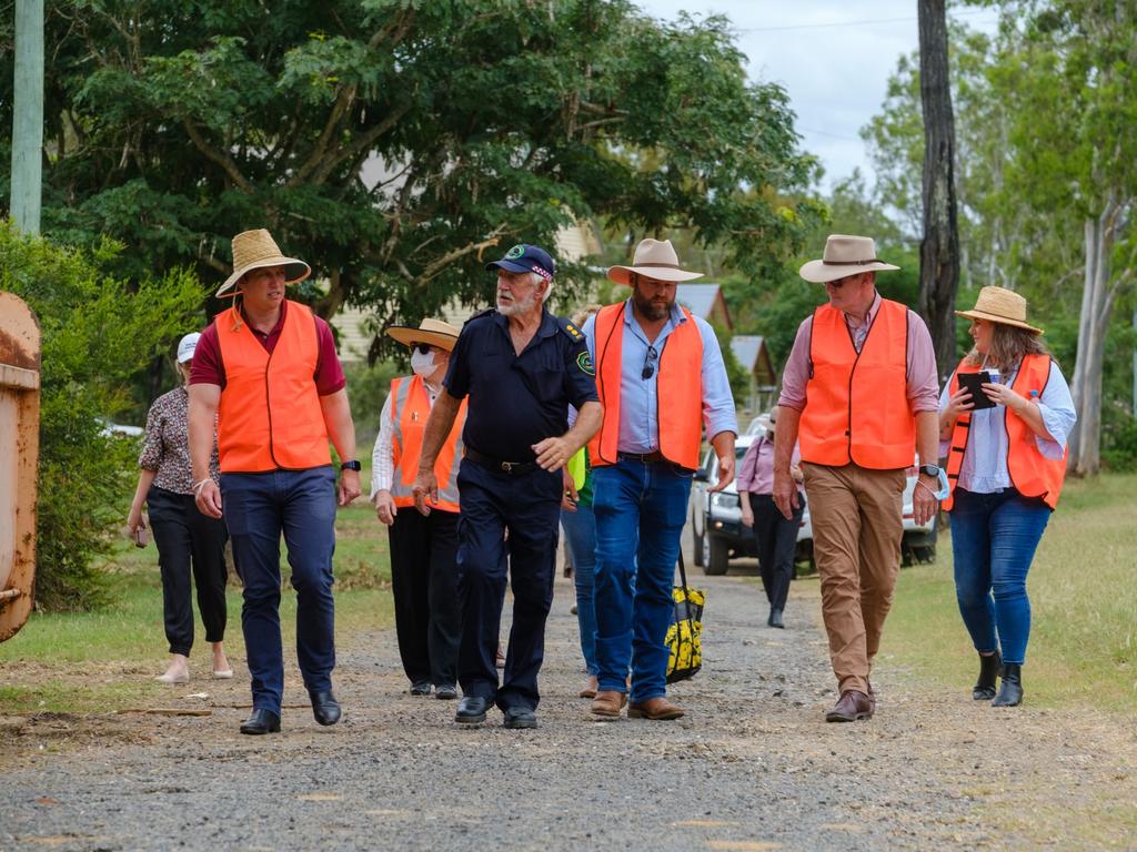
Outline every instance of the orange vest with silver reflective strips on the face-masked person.
<svg viewBox="0 0 1137 852"><path fill-rule="evenodd" d="M414 485L418 475L418 458L423 451L426 418L430 417L430 396L421 376L396 378L391 382L391 457L395 476L391 496L398 507L415 504ZM462 461L462 428L466 423L466 398L458 406L454 427L434 461L438 479L438 502L442 511L458 511L458 465Z"/></svg>

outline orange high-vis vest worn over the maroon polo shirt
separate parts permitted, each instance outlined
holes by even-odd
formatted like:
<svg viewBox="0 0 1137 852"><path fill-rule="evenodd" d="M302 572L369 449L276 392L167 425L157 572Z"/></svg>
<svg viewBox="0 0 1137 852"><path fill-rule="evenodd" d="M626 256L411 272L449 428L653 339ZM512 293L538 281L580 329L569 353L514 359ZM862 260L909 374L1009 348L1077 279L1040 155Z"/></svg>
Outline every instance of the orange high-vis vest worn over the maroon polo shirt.
<svg viewBox="0 0 1137 852"><path fill-rule="evenodd" d="M217 408L222 473L305 470L331 465L316 392L319 341L312 311L285 302L284 327L269 354L236 308L214 320L225 369Z"/></svg>

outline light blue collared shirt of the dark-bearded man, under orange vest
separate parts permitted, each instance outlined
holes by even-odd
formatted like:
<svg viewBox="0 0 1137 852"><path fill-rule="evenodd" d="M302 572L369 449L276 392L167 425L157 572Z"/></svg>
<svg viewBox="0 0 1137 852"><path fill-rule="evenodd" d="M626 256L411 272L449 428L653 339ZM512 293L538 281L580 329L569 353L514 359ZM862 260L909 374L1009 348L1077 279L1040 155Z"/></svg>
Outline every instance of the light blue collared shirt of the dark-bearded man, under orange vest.
<svg viewBox="0 0 1137 852"><path fill-rule="evenodd" d="M695 327L703 339L703 423L706 426L707 440L720 432L738 434L738 420L735 417L735 398L730 392L730 379L727 377L727 366L722 361L722 350L719 339L711 325L694 315ZM655 452L659 449L659 358L663 357L667 337L680 323L687 323L687 316L679 304L671 307L669 317L659 336L654 343L648 343L647 335L640 328L632 314L632 300L624 302L623 341L621 342L621 379L620 379L620 433L616 449L620 452ZM588 351L596 359L596 317L591 316L584 323L584 337L588 340ZM647 364L648 346L654 346L658 358L654 360L655 370L650 378L645 379L644 367Z"/></svg>

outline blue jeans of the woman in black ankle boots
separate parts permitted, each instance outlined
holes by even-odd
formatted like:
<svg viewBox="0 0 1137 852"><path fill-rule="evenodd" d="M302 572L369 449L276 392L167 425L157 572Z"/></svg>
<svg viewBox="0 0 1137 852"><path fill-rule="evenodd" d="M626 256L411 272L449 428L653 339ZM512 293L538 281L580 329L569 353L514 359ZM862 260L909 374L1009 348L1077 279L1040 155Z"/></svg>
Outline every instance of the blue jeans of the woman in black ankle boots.
<svg viewBox="0 0 1137 852"><path fill-rule="evenodd" d="M955 490L955 595L980 653L1002 646L1004 662L1022 665L1030 638L1027 573L1049 519L1046 503L1014 488L996 494Z"/></svg>

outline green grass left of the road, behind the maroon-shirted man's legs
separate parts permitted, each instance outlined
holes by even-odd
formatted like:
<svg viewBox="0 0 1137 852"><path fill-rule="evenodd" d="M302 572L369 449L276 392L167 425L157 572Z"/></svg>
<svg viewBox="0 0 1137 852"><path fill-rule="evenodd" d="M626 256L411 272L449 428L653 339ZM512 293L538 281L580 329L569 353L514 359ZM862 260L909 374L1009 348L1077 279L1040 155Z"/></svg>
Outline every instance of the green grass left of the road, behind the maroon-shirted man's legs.
<svg viewBox="0 0 1137 852"><path fill-rule="evenodd" d="M364 476L364 482L370 477ZM335 633L350 644L362 632L393 624L387 528L360 498L341 509L335 524ZM282 571L288 577L287 559ZM96 612L33 613L23 629L0 644L0 715L110 712L144 705L166 693L151 680L167 653L161 618L158 553L119 546L105 567L114 603ZM230 587L227 652L244 658L241 592ZM197 603L194 602L194 612ZM285 579L281 602L285 646L294 644L296 594ZM200 618L191 667L208 666Z"/></svg>

